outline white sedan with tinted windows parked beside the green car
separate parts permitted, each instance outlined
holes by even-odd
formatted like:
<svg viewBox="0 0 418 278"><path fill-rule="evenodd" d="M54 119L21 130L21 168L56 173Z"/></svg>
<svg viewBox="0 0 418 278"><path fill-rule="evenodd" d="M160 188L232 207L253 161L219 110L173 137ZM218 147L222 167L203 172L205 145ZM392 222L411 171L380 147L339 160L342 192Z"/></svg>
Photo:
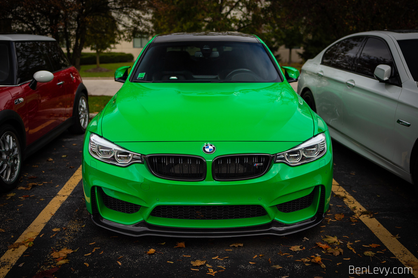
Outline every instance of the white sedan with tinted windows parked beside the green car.
<svg viewBox="0 0 418 278"><path fill-rule="evenodd" d="M418 193L417 50L416 30L348 35L306 61L298 94L333 139Z"/></svg>

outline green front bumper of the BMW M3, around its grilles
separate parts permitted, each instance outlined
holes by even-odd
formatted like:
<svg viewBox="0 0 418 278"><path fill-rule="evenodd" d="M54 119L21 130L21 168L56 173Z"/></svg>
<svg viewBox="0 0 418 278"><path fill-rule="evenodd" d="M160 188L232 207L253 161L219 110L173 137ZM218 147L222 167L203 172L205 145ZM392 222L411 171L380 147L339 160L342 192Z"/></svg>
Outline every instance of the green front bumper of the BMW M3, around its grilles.
<svg viewBox="0 0 418 278"><path fill-rule="evenodd" d="M181 182L155 177L146 164L118 167L101 162L83 149L83 188L87 210L99 226L129 235L170 235L189 237L240 236L255 234L283 235L307 229L321 222L329 206L332 184L332 148L328 132L326 154L320 159L296 167L274 163L261 177L220 182L212 178L211 163L216 156L233 153L273 154L297 142L214 142L216 155L205 155L206 179ZM86 140L89 132L86 132ZM201 149L202 142L176 142L179 153ZM212 143L212 142L211 142ZM196 148L194 147L196 144ZM172 142L132 142L122 147L143 153L169 153ZM293 146L290 146L293 147ZM243 149L242 148L247 148ZM223 150L223 152L221 151ZM282 212L277 205L314 192L309 207ZM139 205L134 213L112 210L104 204L103 194ZM159 205L260 205L266 215L240 219L173 219L151 215Z"/></svg>

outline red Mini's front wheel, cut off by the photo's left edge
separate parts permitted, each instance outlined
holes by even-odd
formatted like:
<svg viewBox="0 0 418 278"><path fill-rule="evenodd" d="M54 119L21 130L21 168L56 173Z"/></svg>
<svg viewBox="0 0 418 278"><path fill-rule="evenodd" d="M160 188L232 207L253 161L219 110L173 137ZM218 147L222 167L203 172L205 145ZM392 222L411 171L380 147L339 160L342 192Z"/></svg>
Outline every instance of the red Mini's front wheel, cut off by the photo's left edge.
<svg viewBox="0 0 418 278"><path fill-rule="evenodd" d="M20 145L20 137L13 126L0 126L0 192L11 190L19 182L22 167Z"/></svg>

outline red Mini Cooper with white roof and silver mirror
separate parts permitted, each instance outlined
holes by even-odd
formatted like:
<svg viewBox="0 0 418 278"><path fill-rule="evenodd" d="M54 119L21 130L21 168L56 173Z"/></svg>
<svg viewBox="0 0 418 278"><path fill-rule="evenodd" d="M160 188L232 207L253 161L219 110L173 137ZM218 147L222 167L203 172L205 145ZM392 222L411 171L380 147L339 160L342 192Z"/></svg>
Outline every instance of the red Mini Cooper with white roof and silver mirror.
<svg viewBox="0 0 418 278"><path fill-rule="evenodd" d="M87 89L56 40L0 35L0 192L17 184L25 157L88 121Z"/></svg>

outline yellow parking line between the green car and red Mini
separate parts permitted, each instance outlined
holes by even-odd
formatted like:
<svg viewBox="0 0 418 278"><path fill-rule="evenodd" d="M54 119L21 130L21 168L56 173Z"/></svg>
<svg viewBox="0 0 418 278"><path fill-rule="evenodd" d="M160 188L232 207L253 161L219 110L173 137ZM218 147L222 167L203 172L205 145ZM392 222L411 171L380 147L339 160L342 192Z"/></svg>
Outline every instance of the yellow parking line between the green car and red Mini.
<svg viewBox="0 0 418 278"><path fill-rule="evenodd" d="M52 200L46 205L46 207L41 211L41 213L33 220L32 224L23 232L22 235L15 241L15 243L20 243L25 240L27 237L35 238L36 235L41 233L43 227L51 219L52 215L61 207L62 203L67 199L67 197L74 190L76 185L80 182L82 178L81 166L76 170L72 177L66 182L66 184L61 188L57 195L52 198ZM29 236L26 236L26 235ZM0 258L0 278L4 278L9 270L15 265L20 256L25 252L27 247L25 245L20 245L19 248L9 249L6 253Z"/></svg>

